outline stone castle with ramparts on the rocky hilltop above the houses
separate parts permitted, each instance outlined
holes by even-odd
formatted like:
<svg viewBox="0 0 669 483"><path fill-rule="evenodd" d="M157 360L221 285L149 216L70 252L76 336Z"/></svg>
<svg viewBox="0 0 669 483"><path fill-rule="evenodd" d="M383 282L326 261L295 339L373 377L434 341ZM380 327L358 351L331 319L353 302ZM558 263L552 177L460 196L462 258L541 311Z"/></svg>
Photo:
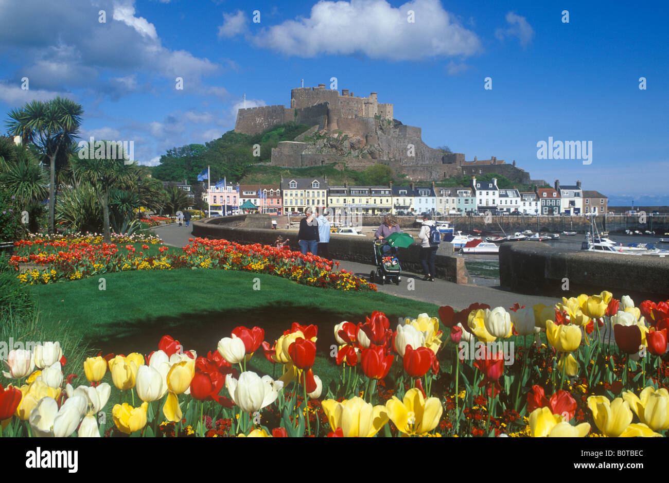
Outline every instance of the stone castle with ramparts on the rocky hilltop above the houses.
<svg viewBox="0 0 669 483"><path fill-rule="evenodd" d="M279 142L272 149L271 165L312 167L336 163L343 169L363 170L375 164L405 173L411 181L440 181L463 174L485 174L502 169L504 176L529 182L529 173L504 165L492 157L487 162L466 162L462 153L434 149L421 138L421 128L406 126L393 117L393 104L379 103L376 92L356 97L344 89L318 87L290 91L290 108L262 106L240 109L235 132L257 134L286 122L312 126L294 141ZM504 165L504 166L500 166Z"/></svg>

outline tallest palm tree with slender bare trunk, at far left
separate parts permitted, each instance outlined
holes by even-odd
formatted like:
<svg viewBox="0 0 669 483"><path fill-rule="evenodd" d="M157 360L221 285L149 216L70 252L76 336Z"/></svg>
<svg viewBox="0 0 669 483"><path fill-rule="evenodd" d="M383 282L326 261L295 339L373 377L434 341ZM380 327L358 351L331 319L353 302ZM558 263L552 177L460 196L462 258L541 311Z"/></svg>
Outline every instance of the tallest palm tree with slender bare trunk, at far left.
<svg viewBox="0 0 669 483"><path fill-rule="evenodd" d="M78 137L84 108L73 100L57 97L47 102L33 100L9 112L7 127L13 136L37 146L49 161L49 231L54 233L56 206L56 157Z"/></svg>

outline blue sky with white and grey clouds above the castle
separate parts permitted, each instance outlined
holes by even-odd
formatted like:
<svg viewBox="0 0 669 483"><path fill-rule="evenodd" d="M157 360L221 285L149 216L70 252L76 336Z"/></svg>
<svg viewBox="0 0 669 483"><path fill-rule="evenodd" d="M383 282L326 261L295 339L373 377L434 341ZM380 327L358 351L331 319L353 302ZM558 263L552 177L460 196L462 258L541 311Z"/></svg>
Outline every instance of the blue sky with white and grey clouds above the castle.
<svg viewBox="0 0 669 483"><path fill-rule="evenodd" d="M579 179L611 204L669 204L666 17L660 2L618 5L0 0L0 112L68 96L84 106L82 137L134 140L136 159L155 165L232 129L244 94L247 106L287 105L302 79L336 77L467 161ZM592 163L537 159L549 136L592 141Z"/></svg>

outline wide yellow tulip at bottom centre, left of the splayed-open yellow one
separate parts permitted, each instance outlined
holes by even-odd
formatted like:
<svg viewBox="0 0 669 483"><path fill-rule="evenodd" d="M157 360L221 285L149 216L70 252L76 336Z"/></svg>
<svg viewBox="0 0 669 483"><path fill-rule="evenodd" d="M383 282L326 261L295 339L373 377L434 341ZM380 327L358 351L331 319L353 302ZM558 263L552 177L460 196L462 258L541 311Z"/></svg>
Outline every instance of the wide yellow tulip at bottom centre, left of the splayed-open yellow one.
<svg viewBox="0 0 669 483"><path fill-rule="evenodd" d="M326 399L322 407L332 431L341 427L347 438L371 438L388 422L385 406L372 406L357 396L341 403Z"/></svg>

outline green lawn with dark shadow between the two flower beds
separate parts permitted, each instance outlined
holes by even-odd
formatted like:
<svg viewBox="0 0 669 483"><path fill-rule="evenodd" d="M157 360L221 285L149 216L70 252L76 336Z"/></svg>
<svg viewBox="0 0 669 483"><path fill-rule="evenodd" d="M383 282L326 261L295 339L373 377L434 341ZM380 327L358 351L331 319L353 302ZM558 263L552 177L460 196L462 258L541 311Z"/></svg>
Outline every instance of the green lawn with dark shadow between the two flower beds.
<svg viewBox="0 0 669 483"><path fill-rule="evenodd" d="M66 323L104 354L147 355L169 334L185 350L206 355L238 325L264 328L265 340L271 344L292 322L313 323L318 325L314 373L325 385L339 375L330 357L334 324L363 322L365 315L380 310L394 330L399 316L415 318L421 312L436 316L438 309L379 292L322 289L231 270L118 272L104 279L105 290L100 290L100 277L31 286L43 328ZM260 351L247 368L272 374L272 365Z"/></svg>

